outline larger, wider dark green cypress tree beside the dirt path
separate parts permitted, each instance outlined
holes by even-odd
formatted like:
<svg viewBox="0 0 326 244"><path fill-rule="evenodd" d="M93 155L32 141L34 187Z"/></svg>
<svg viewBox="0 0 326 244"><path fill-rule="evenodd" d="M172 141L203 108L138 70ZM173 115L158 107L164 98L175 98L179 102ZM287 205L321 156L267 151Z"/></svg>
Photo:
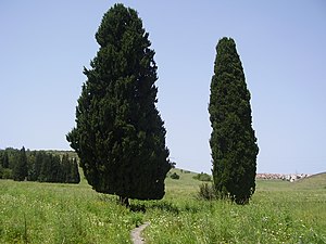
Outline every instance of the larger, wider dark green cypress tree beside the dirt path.
<svg viewBox="0 0 326 244"><path fill-rule="evenodd" d="M148 36L135 10L115 4L104 14L67 134L88 183L121 200L162 198L171 168Z"/></svg>

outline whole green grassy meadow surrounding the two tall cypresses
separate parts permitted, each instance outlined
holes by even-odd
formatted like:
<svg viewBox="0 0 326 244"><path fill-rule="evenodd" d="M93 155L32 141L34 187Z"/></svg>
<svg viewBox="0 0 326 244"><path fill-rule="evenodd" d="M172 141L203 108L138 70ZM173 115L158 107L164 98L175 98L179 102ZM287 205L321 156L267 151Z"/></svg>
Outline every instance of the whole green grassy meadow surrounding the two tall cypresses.
<svg viewBox="0 0 326 244"><path fill-rule="evenodd" d="M78 185L0 180L0 243L326 243L326 175L289 183L258 181L249 205L197 198L193 174L174 169L162 201L131 201Z"/></svg>

